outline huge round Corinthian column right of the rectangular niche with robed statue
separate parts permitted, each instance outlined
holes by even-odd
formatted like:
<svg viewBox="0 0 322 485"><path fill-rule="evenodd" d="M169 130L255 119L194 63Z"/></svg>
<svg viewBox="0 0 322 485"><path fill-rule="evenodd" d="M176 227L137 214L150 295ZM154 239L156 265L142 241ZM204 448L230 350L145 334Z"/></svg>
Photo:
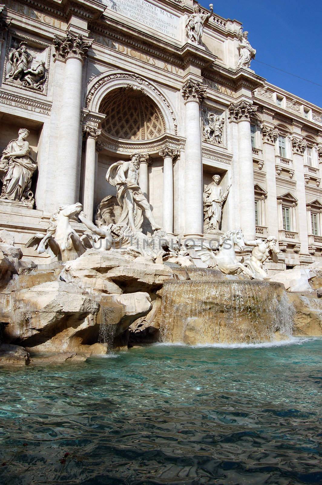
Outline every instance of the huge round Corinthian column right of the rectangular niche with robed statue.
<svg viewBox="0 0 322 485"><path fill-rule="evenodd" d="M250 135L250 120L257 106L247 101L231 103L230 122L238 124L238 171L240 194L240 225L246 239L255 239L255 196L253 152Z"/></svg>

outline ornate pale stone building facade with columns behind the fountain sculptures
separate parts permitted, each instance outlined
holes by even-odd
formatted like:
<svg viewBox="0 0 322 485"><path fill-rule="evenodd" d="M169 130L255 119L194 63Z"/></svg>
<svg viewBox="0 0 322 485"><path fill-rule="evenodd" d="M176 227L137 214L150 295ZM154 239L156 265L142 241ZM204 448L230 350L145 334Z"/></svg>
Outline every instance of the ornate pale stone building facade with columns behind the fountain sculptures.
<svg viewBox="0 0 322 485"><path fill-rule="evenodd" d="M322 109L257 75L247 34L193 0L0 5L0 228L25 258L46 262L25 244L61 206L117 222L106 173L135 157L197 264L195 241L238 228L277 239L271 272L321 259Z"/></svg>

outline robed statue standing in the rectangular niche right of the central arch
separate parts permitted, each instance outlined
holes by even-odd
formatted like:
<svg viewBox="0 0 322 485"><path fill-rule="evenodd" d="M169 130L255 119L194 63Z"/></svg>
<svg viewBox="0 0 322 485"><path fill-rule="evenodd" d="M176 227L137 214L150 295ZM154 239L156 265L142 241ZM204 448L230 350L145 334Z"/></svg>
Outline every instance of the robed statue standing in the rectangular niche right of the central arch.
<svg viewBox="0 0 322 485"><path fill-rule="evenodd" d="M225 203L231 183L224 193L219 186L220 176L214 175L213 182L207 185L203 193L203 214L204 214L204 231L216 231L220 228L222 207Z"/></svg>

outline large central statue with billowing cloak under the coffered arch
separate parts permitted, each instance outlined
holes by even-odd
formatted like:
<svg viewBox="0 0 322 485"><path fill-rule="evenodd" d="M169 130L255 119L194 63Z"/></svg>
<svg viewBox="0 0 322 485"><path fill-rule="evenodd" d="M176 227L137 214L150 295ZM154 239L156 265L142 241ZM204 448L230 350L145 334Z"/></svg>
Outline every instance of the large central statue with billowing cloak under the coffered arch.
<svg viewBox="0 0 322 485"><path fill-rule="evenodd" d="M124 224L134 232L141 231L145 214L153 230L161 229L154 220L147 198L138 186L139 160L139 155L135 155L131 162L121 160L107 170L107 182L116 187L117 201L122 208L118 224Z"/></svg>

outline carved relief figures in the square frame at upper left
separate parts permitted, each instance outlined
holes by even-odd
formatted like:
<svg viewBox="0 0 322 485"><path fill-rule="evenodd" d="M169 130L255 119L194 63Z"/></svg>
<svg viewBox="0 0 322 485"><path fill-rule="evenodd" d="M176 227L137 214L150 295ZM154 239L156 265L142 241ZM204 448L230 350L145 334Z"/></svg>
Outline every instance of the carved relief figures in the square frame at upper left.
<svg viewBox="0 0 322 485"><path fill-rule="evenodd" d="M24 87L42 91L47 78L47 70L44 61L38 61L32 67L32 61L36 56L27 50L28 44L21 42L19 46L10 50L6 67L6 80L20 82Z"/></svg>

